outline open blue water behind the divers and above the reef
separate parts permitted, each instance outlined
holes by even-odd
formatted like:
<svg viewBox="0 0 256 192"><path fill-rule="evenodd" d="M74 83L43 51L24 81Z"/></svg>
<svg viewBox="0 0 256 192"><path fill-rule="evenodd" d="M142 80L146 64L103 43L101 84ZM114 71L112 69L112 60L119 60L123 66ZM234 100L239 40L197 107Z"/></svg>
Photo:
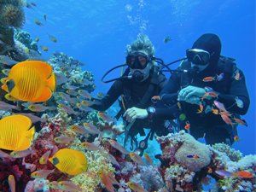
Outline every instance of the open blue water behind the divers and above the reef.
<svg viewBox="0 0 256 192"><path fill-rule="evenodd" d="M255 3L253 0L65 0L35 1L26 9L26 26L39 45L49 47L49 57L59 50L84 62L94 73L96 90L107 91L111 84L101 78L110 67L125 61L125 46L145 33L152 40L156 56L166 62L184 56L196 38L214 32L222 40L222 55L236 58L245 73L251 106L243 117L248 127L238 127L240 142L234 148L256 154L255 143ZM44 22L44 14L47 21ZM38 19L44 26L37 26ZM48 34L58 38L49 41ZM167 36L172 41L165 44ZM175 67L175 66L174 66ZM111 77L117 77L119 70Z"/></svg>

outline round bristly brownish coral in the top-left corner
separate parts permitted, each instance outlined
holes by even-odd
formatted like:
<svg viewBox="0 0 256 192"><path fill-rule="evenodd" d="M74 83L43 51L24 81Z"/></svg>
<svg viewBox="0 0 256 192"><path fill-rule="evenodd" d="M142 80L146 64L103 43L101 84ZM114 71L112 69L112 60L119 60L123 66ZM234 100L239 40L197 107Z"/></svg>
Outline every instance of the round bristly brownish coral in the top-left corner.
<svg viewBox="0 0 256 192"><path fill-rule="evenodd" d="M0 9L0 25L21 28L25 23L25 14L20 6L4 4Z"/></svg>

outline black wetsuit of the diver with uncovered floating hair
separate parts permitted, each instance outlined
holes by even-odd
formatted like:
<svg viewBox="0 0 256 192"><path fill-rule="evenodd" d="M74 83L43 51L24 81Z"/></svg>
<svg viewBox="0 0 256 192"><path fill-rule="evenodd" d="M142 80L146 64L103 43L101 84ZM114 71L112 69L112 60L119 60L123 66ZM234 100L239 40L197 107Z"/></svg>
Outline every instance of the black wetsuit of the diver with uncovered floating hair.
<svg viewBox="0 0 256 192"><path fill-rule="evenodd" d="M136 82L132 79L116 80L108 90L107 95L102 98L101 102L90 107L99 111L105 111L121 95L124 95L126 109L132 107L148 108L149 106L152 106L151 97L159 95L160 90L163 89L164 84L166 83L166 77L163 74L160 73L159 75L155 75L154 73L153 75L154 70L156 70L156 67L151 69L148 79L143 82ZM130 73L129 68L125 70L124 76L127 76L128 73ZM152 80L153 76L154 80ZM148 93L148 87L150 84L154 84L154 89L153 91L150 91L150 94L146 96L146 99L144 99L145 94ZM168 134L162 119L154 119L152 122L149 122L148 119L137 119L129 131L129 135L131 137L135 137L137 133L140 133L141 136L144 136L145 133L143 128L153 129L158 136Z"/></svg>

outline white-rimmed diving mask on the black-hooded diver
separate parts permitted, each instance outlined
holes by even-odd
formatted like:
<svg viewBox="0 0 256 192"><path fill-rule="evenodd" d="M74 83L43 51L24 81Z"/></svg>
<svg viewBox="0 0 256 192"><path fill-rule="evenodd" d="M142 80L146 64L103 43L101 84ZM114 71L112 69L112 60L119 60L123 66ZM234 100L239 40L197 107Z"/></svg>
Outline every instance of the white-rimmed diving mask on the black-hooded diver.
<svg viewBox="0 0 256 192"><path fill-rule="evenodd" d="M201 66L207 65L211 57L209 52L203 49L187 49L186 55L188 61Z"/></svg>

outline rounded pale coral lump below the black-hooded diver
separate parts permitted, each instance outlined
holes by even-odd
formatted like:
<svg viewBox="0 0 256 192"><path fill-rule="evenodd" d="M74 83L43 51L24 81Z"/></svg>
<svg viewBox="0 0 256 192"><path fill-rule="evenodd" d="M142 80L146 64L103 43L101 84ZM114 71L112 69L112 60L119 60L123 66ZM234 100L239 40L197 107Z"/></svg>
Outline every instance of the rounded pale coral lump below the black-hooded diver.
<svg viewBox="0 0 256 192"><path fill-rule="evenodd" d="M191 172L199 172L201 168L208 166L211 162L211 153L207 145L199 143L187 133L184 133L182 137L184 142L175 154L177 162Z"/></svg>

